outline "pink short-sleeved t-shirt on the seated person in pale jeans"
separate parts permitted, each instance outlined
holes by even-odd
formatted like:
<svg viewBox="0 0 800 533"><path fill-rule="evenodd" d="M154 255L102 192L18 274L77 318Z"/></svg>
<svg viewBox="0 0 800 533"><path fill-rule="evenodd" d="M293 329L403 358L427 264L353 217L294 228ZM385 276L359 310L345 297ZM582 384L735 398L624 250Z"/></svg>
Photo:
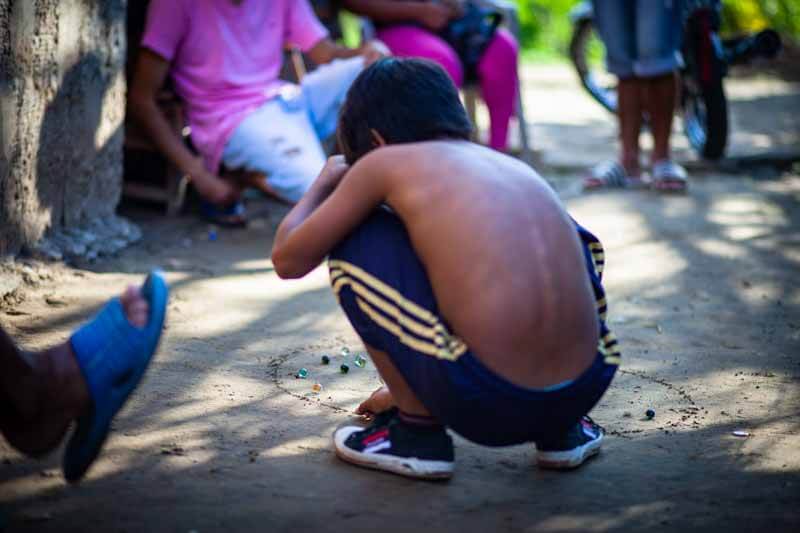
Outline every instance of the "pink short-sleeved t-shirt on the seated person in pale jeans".
<svg viewBox="0 0 800 533"><path fill-rule="evenodd" d="M142 46L170 62L192 142L216 172L225 143L275 96L286 44L327 36L308 0L151 0Z"/></svg>

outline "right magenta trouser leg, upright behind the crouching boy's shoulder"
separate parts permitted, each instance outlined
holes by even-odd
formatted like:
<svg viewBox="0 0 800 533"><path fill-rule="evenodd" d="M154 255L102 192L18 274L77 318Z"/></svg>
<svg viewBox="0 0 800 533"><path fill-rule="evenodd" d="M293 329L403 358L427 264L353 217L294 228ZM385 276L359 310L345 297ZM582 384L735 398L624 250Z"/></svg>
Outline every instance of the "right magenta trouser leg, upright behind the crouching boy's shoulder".
<svg viewBox="0 0 800 533"><path fill-rule="evenodd" d="M514 36L500 28L478 63L481 93L491 122L489 146L495 150L508 148L508 124L514 115L519 85L518 52Z"/></svg>

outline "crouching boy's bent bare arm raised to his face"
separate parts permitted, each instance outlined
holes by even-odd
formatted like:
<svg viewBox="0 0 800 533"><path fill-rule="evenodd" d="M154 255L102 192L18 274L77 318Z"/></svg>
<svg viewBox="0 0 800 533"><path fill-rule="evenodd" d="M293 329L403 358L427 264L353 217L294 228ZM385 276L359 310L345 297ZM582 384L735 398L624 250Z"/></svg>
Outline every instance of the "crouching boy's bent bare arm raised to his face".
<svg viewBox="0 0 800 533"><path fill-rule="evenodd" d="M328 160L300 202L286 215L272 246L283 279L301 278L387 196L386 169L370 154L349 169L342 156Z"/></svg>

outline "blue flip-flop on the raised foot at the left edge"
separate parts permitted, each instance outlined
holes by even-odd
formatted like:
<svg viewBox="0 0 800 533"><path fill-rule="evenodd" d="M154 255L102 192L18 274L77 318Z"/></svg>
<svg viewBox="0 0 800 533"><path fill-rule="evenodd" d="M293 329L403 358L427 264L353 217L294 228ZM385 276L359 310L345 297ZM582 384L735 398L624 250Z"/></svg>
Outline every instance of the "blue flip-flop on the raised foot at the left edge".
<svg viewBox="0 0 800 533"><path fill-rule="evenodd" d="M70 338L92 397L90 412L78 419L64 452L64 477L70 483L80 481L97 458L111 420L141 381L158 347L169 295L159 272L147 276L142 295L150 307L144 328L132 326L119 298L114 298Z"/></svg>

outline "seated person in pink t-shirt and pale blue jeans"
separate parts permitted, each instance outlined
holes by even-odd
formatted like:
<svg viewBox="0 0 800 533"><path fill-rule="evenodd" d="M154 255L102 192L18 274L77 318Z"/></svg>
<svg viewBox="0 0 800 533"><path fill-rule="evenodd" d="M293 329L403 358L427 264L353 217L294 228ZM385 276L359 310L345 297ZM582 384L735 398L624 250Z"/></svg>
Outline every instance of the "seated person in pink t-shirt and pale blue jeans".
<svg viewBox="0 0 800 533"><path fill-rule="evenodd" d="M278 79L287 44L316 64L299 87ZM333 133L352 80L381 47L334 44L307 0L151 0L130 111L164 155L189 175L220 223L243 222L239 196L254 185L296 202L325 164L320 139ZM362 57L363 56L363 57ZM196 157L170 128L156 98L167 76L186 105ZM220 164L242 175L229 183Z"/></svg>

